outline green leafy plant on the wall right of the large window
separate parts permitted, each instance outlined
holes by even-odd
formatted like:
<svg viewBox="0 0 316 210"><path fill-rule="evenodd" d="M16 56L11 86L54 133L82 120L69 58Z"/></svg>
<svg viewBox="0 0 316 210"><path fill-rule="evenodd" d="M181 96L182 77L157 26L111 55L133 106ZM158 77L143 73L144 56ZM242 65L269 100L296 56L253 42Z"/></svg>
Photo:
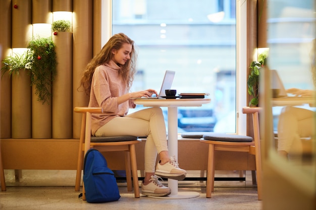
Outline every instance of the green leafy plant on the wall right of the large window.
<svg viewBox="0 0 316 210"><path fill-rule="evenodd" d="M249 106L257 106L258 101L258 83L260 76L260 69L267 64L268 51L264 51L258 55L258 60L254 60L250 63L250 72L248 76L247 86L248 94L253 98L249 101Z"/></svg>

